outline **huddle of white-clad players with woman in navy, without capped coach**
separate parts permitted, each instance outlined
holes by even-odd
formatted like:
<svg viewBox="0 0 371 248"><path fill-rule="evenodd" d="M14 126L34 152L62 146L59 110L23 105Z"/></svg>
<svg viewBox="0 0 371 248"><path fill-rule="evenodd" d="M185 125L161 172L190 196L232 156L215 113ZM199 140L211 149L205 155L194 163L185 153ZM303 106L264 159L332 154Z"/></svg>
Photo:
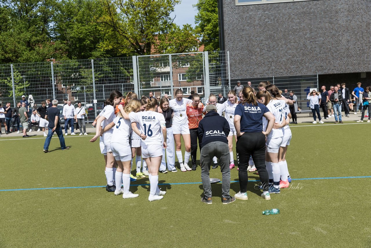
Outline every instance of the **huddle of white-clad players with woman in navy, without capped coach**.
<svg viewBox="0 0 371 248"><path fill-rule="evenodd" d="M99 138L105 158L106 190L115 195L122 194L124 199L138 197L130 192L130 182L148 176L148 200L162 199L166 191L158 187L158 175L178 171L175 155L182 172L197 170L197 149L201 148L202 142L198 123L206 113L206 106L213 104L216 112L224 115L229 123L230 132L226 138L230 170L235 167L233 136L238 141L240 191L234 197L247 200L247 171L257 171L259 187L263 190L261 196L269 200L270 193L280 193L280 188L289 187L291 182L286 151L291 140L288 105L293 101L282 97L281 93L275 85L263 81L259 91L249 86L240 92L230 90L227 101L222 104L210 94L204 105L197 93L187 99L181 89L175 91L174 99L163 97L160 101L151 95L138 99L132 92L123 97L121 92L112 91L93 122L96 134L90 140L95 142ZM136 167L135 176L131 174L132 166ZM213 157L210 167L218 167L217 157Z"/></svg>

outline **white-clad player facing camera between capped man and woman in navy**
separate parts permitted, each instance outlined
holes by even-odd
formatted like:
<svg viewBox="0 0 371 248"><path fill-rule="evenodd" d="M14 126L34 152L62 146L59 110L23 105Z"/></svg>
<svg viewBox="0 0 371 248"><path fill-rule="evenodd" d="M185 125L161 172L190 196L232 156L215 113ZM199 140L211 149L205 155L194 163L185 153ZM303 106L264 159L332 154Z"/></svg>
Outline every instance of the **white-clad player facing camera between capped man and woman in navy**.
<svg viewBox="0 0 371 248"><path fill-rule="evenodd" d="M237 141L237 133L236 128L234 128L234 110L236 110L237 104L237 96L236 91L230 90L227 94L228 100L223 103L225 108L225 118L229 124L229 135L227 136L228 139L228 146L229 146L229 154L230 154L230 164L229 168L232 170L234 168L234 157L233 157L233 136L234 140Z"/></svg>

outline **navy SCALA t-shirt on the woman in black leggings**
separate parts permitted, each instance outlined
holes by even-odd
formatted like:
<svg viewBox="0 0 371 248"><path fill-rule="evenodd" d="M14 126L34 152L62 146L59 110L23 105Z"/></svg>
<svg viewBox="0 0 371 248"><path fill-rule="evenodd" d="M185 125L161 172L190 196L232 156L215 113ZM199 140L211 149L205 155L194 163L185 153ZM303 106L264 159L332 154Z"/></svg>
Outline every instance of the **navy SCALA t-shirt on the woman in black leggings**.
<svg viewBox="0 0 371 248"><path fill-rule="evenodd" d="M234 110L234 115L241 116L240 129L241 132L257 133L263 132L263 115L269 112L269 109L261 103L257 106L249 103L240 103Z"/></svg>

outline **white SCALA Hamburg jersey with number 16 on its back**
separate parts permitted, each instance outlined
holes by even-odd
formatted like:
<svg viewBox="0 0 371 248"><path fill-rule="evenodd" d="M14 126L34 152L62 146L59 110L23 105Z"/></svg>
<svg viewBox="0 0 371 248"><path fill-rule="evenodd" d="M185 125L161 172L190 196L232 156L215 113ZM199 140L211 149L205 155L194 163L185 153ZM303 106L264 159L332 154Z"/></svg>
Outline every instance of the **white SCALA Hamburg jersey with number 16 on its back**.
<svg viewBox="0 0 371 248"><path fill-rule="evenodd" d="M161 125L165 125L166 123L164 115L153 111L146 111L131 113L129 116L131 122L139 123L141 133L147 135L147 138L142 140L142 144L162 145Z"/></svg>

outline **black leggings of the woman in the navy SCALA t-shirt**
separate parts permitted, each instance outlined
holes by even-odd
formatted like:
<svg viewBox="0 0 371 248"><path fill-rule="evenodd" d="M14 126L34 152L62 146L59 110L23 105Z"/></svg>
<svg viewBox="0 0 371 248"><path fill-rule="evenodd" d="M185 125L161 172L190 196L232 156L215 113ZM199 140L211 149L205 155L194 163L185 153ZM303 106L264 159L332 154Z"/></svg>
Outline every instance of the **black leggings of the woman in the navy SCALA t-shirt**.
<svg viewBox="0 0 371 248"><path fill-rule="evenodd" d="M268 190L269 177L265 167L265 135L262 132L257 132L244 133L237 137L236 152L241 193L247 191L247 166L249 165L250 155L253 158L256 170L259 172L263 189Z"/></svg>

